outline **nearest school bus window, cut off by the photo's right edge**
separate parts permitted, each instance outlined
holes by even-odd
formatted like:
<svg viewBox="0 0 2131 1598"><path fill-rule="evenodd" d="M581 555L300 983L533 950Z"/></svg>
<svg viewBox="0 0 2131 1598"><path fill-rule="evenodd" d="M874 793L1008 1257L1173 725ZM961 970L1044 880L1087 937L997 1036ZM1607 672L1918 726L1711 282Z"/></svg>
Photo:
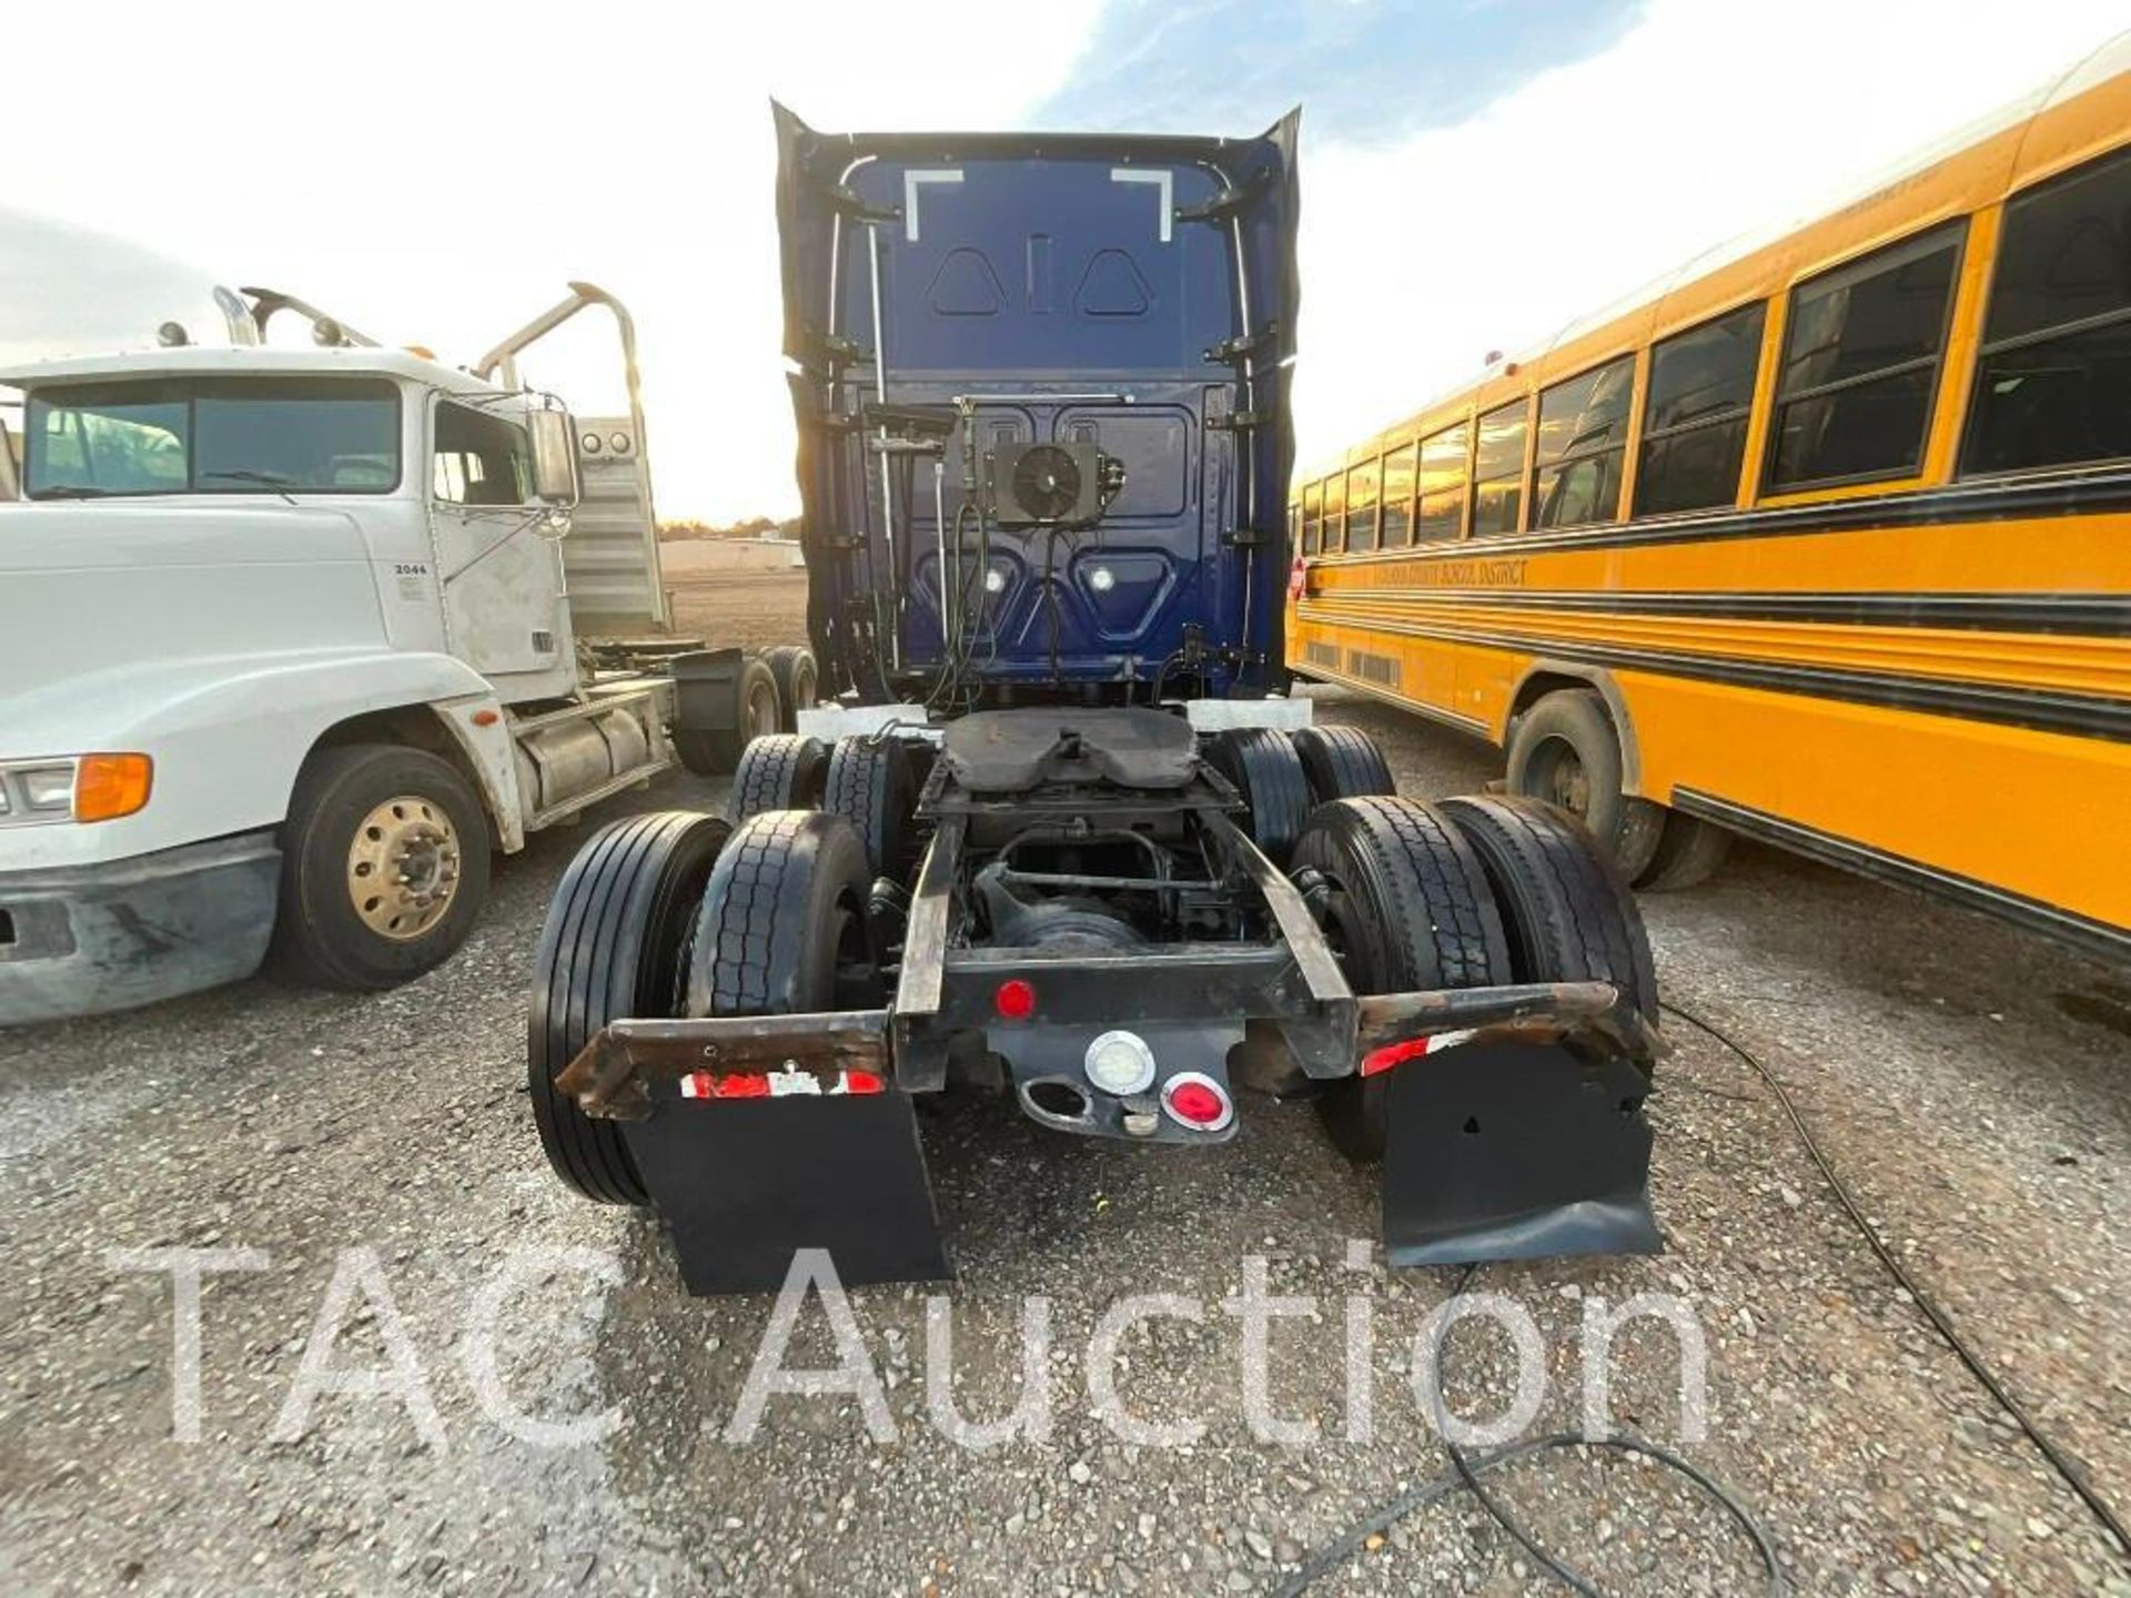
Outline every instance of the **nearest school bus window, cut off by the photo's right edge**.
<svg viewBox="0 0 2131 1598"><path fill-rule="evenodd" d="M2131 151L2005 207L1963 471L2131 456Z"/></svg>

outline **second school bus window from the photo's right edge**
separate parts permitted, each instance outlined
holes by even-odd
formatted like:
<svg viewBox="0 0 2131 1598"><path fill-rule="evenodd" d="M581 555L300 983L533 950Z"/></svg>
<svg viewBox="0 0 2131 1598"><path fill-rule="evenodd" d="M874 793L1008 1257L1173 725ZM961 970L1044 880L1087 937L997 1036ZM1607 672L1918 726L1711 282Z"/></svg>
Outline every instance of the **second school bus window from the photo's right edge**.
<svg viewBox="0 0 2131 1598"><path fill-rule="evenodd" d="M1961 228L1790 292L1769 488L1907 477L1924 458Z"/></svg>

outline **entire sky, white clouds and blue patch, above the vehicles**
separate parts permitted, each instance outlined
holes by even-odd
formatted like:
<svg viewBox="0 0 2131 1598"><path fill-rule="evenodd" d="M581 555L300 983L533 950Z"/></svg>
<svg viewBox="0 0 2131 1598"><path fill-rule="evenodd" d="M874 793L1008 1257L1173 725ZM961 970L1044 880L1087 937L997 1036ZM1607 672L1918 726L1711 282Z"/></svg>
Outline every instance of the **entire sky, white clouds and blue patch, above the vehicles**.
<svg viewBox="0 0 2131 1598"><path fill-rule="evenodd" d="M181 15L179 15L181 13ZM1302 104L1304 460L2069 68L2122 0L107 0L9 21L0 349L128 245L471 362L635 313L665 518L797 509L771 96L816 128L1251 134ZM1008 26L1010 19L1010 26ZM28 70L51 62L53 70ZM51 219L32 228L21 213ZM6 251L17 254L9 258ZM528 362L620 401L586 313Z"/></svg>

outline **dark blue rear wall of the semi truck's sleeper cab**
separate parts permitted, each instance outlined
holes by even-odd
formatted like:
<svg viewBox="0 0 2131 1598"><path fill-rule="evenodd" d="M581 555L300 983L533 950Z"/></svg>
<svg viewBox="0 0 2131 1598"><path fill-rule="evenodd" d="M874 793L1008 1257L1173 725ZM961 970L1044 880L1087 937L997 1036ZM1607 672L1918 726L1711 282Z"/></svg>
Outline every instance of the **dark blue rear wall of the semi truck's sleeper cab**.
<svg viewBox="0 0 2131 1598"><path fill-rule="evenodd" d="M1298 117L1245 141L776 121L808 620L833 686L923 697L955 639L972 699L1132 699L1166 667L1189 690L1272 686ZM1093 445L1123 488L1093 526L978 528L967 462L1014 443Z"/></svg>

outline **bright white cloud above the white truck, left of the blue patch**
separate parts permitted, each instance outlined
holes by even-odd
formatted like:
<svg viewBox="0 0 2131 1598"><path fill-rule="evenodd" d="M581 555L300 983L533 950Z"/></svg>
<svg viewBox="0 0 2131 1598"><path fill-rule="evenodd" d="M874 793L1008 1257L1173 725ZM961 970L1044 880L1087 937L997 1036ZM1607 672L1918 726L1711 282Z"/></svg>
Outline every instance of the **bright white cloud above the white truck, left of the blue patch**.
<svg viewBox="0 0 2131 1598"><path fill-rule="evenodd" d="M9 15L23 136L0 202L452 362L590 279L637 317L661 513L788 509L769 98L823 128L1019 126L1097 11L914 17L878 0L28 6ZM72 247L40 271L64 275ZM582 411L620 394L597 317L524 369Z"/></svg>

